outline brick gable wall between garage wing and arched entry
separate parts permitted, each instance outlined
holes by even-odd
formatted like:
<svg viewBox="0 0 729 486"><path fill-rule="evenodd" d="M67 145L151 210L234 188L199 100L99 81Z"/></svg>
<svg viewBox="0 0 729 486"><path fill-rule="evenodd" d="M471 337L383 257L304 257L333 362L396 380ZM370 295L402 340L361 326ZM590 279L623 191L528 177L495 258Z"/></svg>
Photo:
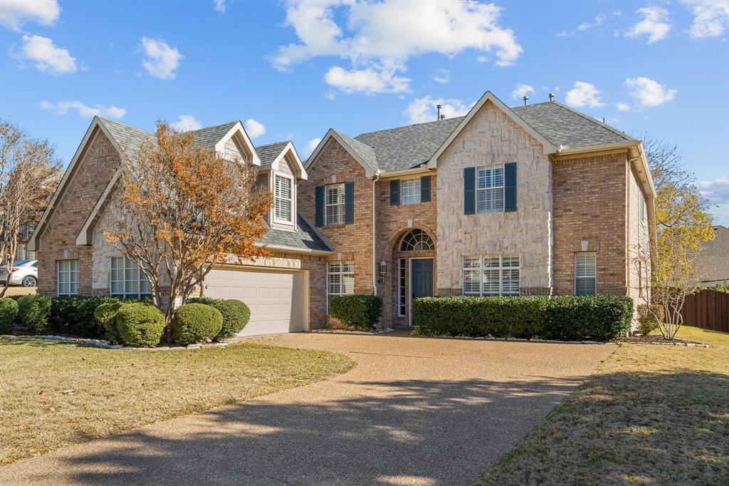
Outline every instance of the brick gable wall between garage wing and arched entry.
<svg viewBox="0 0 729 486"><path fill-rule="evenodd" d="M354 223L322 226L316 230L335 251L328 261L354 261L354 293L372 295L372 181L335 139L330 139L321 150L316 164L308 171L308 180L298 184L299 212L313 225L316 221L316 186L343 182L354 182ZM310 282L312 288L320 286L326 294L326 277Z"/></svg>

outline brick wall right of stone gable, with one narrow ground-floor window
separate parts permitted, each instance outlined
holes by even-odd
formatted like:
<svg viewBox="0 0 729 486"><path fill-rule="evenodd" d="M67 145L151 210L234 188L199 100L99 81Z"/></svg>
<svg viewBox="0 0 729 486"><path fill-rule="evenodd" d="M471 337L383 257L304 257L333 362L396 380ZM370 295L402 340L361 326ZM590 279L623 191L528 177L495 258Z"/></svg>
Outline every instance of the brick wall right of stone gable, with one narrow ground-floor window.
<svg viewBox="0 0 729 486"><path fill-rule="evenodd" d="M552 165L555 294L574 293L574 252L596 252L597 293L628 295L628 155L558 160Z"/></svg>

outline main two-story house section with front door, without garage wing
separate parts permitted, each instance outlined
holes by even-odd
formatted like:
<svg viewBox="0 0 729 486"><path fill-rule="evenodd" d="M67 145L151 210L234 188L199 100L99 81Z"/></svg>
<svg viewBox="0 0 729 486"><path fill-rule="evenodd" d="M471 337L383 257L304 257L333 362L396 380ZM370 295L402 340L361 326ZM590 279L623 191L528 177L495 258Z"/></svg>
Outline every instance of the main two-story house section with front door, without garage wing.
<svg viewBox="0 0 729 486"><path fill-rule="evenodd" d="M300 211L334 251L327 294L382 296L385 325L411 323L413 296L647 286L631 256L653 220L642 144L555 101L508 108L487 92L464 117L331 129L306 169Z"/></svg>

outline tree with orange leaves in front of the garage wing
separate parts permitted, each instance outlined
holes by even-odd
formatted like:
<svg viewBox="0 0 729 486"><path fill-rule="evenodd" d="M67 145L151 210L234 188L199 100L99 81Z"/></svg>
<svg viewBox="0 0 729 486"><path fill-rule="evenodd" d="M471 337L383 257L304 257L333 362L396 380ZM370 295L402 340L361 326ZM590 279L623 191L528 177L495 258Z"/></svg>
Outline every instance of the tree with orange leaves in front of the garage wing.
<svg viewBox="0 0 729 486"><path fill-rule="evenodd" d="M196 146L162 121L155 137L123 152L101 232L149 279L170 339L176 304L213 266L268 255L255 242L272 197L240 158Z"/></svg>

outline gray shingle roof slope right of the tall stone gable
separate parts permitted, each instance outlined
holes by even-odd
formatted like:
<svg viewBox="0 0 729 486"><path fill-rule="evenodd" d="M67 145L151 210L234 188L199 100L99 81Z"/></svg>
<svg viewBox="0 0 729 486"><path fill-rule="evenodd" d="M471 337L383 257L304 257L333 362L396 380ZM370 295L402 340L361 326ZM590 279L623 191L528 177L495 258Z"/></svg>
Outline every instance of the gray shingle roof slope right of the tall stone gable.
<svg viewBox="0 0 729 486"><path fill-rule="evenodd" d="M512 110L556 147L569 145L569 148L579 148L636 141L617 128L576 112L557 101L528 104Z"/></svg>

